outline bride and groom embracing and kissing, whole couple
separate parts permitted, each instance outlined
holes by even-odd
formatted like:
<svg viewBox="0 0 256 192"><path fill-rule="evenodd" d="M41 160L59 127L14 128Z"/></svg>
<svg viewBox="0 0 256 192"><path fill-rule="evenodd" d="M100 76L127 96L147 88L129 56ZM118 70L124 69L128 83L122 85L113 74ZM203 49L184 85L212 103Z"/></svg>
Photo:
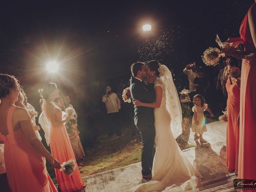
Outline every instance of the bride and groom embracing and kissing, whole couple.
<svg viewBox="0 0 256 192"><path fill-rule="evenodd" d="M202 176L175 140L182 130L182 110L172 73L155 60L147 66L136 62L131 72L134 124L142 138L142 178L149 181L131 191L170 192L198 187Z"/></svg>

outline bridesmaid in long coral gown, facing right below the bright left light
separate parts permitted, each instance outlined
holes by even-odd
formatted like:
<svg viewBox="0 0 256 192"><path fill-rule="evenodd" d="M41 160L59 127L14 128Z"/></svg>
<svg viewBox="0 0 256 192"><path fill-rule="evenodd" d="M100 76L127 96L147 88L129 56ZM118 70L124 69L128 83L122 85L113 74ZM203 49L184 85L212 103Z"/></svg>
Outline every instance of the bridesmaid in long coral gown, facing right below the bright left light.
<svg viewBox="0 0 256 192"><path fill-rule="evenodd" d="M70 120L71 116L67 116L66 119L62 120L62 111L53 102L59 96L56 84L47 83L39 91L41 99L44 101L42 102L42 109L50 122L49 135L52 155L56 156L61 164L71 158L76 159L64 125ZM78 167L71 176L66 176L58 170L55 170L55 174L62 192L78 191L86 186L83 183Z"/></svg>

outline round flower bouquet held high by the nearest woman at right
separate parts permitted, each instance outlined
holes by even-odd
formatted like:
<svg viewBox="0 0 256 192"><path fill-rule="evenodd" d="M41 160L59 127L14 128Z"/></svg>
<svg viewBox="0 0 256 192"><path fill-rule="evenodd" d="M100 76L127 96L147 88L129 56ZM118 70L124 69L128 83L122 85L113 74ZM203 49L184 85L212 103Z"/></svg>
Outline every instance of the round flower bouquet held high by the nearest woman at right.
<svg viewBox="0 0 256 192"><path fill-rule="evenodd" d="M202 60L207 66L216 66L219 63L221 56L221 52L218 48L209 47L204 51Z"/></svg>

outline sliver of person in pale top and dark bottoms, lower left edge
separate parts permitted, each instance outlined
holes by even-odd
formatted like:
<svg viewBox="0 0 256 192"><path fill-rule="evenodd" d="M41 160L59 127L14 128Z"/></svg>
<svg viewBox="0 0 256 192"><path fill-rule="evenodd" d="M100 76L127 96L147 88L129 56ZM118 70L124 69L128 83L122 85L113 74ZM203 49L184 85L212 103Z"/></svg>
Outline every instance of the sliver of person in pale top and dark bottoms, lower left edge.
<svg viewBox="0 0 256 192"><path fill-rule="evenodd" d="M0 144L0 186L4 192L11 192L4 162L4 144Z"/></svg>

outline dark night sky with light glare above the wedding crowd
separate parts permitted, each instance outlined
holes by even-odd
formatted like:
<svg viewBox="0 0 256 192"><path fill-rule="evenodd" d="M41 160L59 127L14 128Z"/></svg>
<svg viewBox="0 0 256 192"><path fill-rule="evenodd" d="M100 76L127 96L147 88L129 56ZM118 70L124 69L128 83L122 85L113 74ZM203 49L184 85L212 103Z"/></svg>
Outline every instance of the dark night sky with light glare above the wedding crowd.
<svg viewBox="0 0 256 192"><path fill-rule="evenodd" d="M176 75L209 46L239 36L253 0L35 1L2 4L0 71L24 84L56 80L89 84L130 75L130 65L156 59ZM152 24L143 32L143 24ZM164 38L163 38L164 37ZM157 42L154 44L152 42ZM148 58L150 49L157 54ZM60 74L45 64L56 60ZM70 85L72 83L70 82Z"/></svg>

